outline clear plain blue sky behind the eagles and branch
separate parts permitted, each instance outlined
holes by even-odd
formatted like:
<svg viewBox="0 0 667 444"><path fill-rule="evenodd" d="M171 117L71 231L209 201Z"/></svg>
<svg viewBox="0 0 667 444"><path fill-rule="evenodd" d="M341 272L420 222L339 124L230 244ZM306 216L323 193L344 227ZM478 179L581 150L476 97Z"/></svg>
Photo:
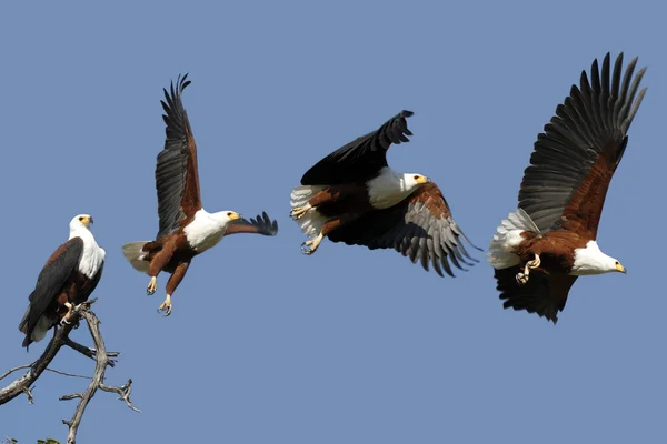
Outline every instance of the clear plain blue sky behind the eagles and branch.
<svg viewBox="0 0 667 444"><path fill-rule="evenodd" d="M58 4L57 4L58 3ZM658 2L12 2L0 13L0 372L39 356L17 326L78 213L107 250L94 311L122 352L81 443L660 442L667 397L665 9ZM648 93L598 241L628 274L579 279L557 326L502 310L482 260L456 279L394 251L326 242L305 256L289 192L330 151L415 111L397 171L444 190L485 250L538 132L611 51ZM121 254L157 232L159 100L179 73L203 205L267 211L276 238L197 258L173 314ZM87 330L73 339L90 343ZM62 350L52 366L91 374ZM4 385L9 381L2 381ZM0 436L63 440L87 382L44 374L0 407Z"/></svg>

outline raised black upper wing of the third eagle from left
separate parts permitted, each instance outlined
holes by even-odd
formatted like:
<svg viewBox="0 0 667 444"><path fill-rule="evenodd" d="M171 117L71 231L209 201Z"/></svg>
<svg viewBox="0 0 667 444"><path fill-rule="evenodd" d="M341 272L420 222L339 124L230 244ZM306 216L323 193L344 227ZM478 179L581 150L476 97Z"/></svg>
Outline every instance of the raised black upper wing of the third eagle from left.
<svg viewBox="0 0 667 444"><path fill-rule="evenodd" d="M406 118L412 111L401 111L378 130L362 135L339 148L301 178L302 185L337 185L372 179L382 167L387 167L387 150L392 143L409 142Z"/></svg>

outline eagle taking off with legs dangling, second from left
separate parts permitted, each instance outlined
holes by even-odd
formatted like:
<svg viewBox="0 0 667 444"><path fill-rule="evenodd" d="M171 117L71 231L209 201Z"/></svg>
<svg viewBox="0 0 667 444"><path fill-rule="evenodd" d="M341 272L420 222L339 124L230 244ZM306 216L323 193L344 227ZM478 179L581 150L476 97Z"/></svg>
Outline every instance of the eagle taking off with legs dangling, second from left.
<svg viewBox="0 0 667 444"><path fill-rule="evenodd" d="M181 282L190 261L215 246L223 236L236 233L276 235L278 223L267 213L250 221L235 211L209 213L201 206L197 170L197 145L188 114L181 102L183 90L190 84L188 74L179 75L176 89L165 91L161 101L166 114L167 140L158 154L156 188L160 226L155 241L131 242L122 246L122 253L138 271L150 276L147 293L158 289L160 271L171 273L167 282L167 297L158 309L171 314L171 295Z"/></svg>

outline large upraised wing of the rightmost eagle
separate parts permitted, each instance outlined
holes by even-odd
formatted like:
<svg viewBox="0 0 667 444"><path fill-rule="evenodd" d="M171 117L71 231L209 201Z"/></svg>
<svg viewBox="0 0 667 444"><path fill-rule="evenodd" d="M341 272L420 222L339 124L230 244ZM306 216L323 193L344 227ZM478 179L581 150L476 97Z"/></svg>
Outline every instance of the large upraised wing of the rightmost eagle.
<svg viewBox="0 0 667 444"><path fill-rule="evenodd" d="M630 123L646 89L635 100L646 68L633 80L637 59L621 80L623 53L610 74L609 54L581 73L580 88L556 108L556 115L535 143L524 174L519 208L540 231L566 229L596 239L611 176L623 158ZM630 84L631 81L631 84Z"/></svg>

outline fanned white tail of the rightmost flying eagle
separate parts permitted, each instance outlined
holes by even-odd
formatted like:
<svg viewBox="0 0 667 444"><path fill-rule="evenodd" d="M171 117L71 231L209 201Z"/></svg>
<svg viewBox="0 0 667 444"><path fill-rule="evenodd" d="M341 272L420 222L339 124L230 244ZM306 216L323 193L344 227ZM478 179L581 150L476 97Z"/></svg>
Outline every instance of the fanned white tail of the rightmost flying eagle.
<svg viewBox="0 0 667 444"><path fill-rule="evenodd" d="M520 259L515 251L524 241L524 238L521 238L524 231L539 234L539 229L532 222L532 219L521 209L509 213L507 219L500 222L487 254L494 269L508 269L520 263Z"/></svg>

